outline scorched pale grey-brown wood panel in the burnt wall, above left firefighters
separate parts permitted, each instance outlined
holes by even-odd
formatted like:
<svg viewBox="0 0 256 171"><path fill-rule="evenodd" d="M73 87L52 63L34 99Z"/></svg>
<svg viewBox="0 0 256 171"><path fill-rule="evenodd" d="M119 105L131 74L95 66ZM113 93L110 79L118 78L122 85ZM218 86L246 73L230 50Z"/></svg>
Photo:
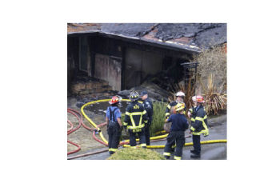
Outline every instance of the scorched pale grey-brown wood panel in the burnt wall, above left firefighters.
<svg viewBox="0 0 256 171"><path fill-rule="evenodd" d="M94 77L109 82L114 90L121 90L121 62L122 58L95 54Z"/></svg>

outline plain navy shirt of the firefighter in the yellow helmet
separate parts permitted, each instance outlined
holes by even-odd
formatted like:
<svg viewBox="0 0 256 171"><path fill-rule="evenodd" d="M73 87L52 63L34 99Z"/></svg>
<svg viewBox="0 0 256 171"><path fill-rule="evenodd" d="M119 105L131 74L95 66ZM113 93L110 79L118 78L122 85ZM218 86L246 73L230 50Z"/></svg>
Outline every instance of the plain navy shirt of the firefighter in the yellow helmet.
<svg viewBox="0 0 256 171"><path fill-rule="evenodd" d="M167 120L168 122L172 122L170 127L170 132L172 131L185 131L189 128L189 123L186 120L186 117L182 113L176 113L170 115Z"/></svg>

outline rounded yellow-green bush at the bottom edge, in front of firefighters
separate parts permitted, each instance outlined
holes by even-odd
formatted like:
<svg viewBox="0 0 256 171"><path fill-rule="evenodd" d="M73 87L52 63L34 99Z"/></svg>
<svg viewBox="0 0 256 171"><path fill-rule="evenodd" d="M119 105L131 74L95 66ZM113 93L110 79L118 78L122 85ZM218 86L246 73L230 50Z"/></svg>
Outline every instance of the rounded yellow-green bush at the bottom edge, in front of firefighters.
<svg viewBox="0 0 256 171"><path fill-rule="evenodd" d="M107 160L165 160L160 153L151 149L120 149Z"/></svg>

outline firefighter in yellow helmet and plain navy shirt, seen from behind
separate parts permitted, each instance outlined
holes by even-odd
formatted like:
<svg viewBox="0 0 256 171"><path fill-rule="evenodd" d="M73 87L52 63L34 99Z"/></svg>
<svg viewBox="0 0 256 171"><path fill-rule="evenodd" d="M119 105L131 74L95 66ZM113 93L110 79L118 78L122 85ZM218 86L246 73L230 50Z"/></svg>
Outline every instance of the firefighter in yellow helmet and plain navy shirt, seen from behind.
<svg viewBox="0 0 256 171"><path fill-rule="evenodd" d="M185 104L178 103L174 106L176 114L170 115L166 122L172 122L170 133L167 137L167 143L164 149L164 157L170 159L171 153L174 152L174 144L176 143L175 160L182 159L182 148L185 145L185 130L189 128L189 123L184 114Z"/></svg>

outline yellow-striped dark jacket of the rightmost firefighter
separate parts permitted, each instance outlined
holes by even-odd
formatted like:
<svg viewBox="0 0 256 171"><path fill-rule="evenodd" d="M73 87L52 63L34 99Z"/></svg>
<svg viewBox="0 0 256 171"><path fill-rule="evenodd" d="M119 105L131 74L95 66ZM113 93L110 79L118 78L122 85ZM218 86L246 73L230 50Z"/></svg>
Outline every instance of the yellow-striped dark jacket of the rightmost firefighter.
<svg viewBox="0 0 256 171"><path fill-rule="evenodd" d="M209 129L206 110L203 105L199 105L198 108L192 107L192 110L190 111L192 111L190 130L194 135L204 133L204 136L207 136L209 134Z"/></svg>

